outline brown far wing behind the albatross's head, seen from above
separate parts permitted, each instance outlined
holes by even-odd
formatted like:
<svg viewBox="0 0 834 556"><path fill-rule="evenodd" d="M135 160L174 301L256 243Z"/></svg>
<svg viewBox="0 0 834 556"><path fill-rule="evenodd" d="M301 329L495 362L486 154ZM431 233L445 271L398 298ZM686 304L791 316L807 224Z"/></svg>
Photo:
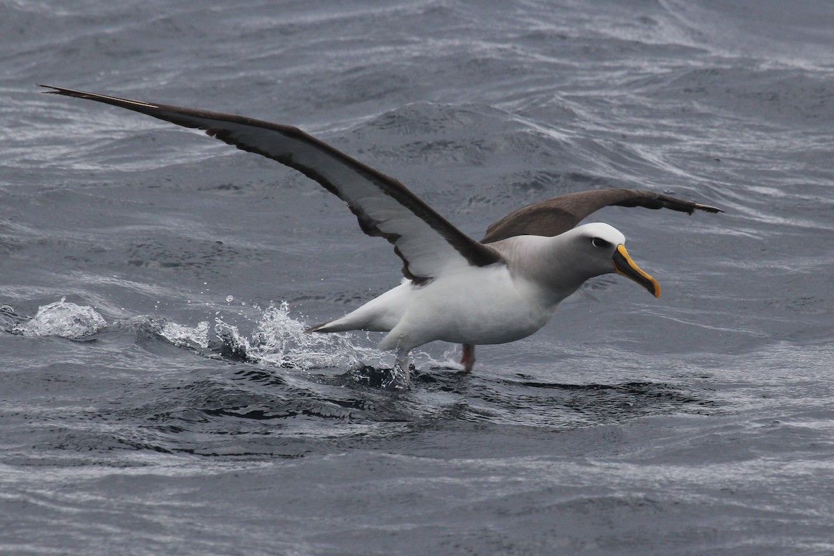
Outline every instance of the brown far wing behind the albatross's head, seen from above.
<svg viewBox="0 0 834 556"><path fill-rule="evenodd" d="M493 243L520 235L557 236L573 228L582 218L603 207L671 208L681 213L704 210L722 213L720 208L684 201L642 189L597 189L567 193L519 208L486 228L481 243Z"/></svg>

